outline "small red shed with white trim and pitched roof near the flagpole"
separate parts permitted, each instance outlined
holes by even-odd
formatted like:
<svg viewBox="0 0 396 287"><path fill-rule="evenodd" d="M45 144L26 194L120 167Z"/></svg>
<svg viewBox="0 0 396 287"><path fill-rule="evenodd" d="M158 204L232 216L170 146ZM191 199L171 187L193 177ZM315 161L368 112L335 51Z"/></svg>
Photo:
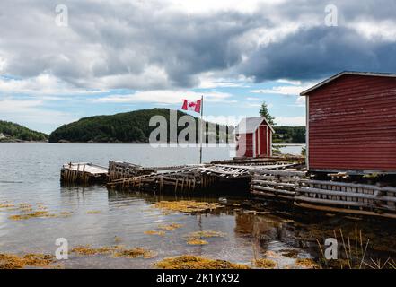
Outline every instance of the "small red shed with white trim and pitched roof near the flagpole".
<svg viewBox="0 0 396 287"><path fill-rule="evenodd" d="M269 157L272 155L272 134L265 117L243 118L235 128L237 157Z"/></svg>

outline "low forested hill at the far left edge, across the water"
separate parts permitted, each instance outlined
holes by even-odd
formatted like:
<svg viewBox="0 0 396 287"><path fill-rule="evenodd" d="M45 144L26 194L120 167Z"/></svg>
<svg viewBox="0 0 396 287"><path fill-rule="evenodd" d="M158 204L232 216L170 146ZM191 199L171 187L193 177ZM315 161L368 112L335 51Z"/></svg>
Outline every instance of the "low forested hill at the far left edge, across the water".
<svg viewBox="0 0 396 287"><path fill-rule="evenodd" d="M0 120L0 142L46 142L48 135Z"/></svg>

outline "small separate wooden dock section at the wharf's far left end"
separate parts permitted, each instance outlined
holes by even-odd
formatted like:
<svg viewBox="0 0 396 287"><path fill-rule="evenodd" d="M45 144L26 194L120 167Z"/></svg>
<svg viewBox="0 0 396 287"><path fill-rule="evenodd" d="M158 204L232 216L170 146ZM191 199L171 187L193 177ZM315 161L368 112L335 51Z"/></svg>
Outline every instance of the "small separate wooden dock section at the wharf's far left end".
<svg viewBox="0 0 396 287"><path fill-rule="evenodd" d="M69 162L60 170L60 181L64 184L106 182L108 169L89 162Z"/></svg>

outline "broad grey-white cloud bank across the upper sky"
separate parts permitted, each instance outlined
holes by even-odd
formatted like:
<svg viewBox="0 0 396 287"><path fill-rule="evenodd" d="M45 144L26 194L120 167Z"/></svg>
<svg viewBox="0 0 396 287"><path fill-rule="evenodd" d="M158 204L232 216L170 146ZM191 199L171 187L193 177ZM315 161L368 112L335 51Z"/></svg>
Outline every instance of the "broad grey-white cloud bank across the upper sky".
<svg viewBox="0 0 396 287"><path fill-rule="evenodd" d="M188 1L187 1L188 2ZM175 4L176 3L176 4ZM341 70L395 72L395 1L254 1L191 13L174 1L2 1L0 74L86 89L194 88L203 74L262 82Z"/></svg>

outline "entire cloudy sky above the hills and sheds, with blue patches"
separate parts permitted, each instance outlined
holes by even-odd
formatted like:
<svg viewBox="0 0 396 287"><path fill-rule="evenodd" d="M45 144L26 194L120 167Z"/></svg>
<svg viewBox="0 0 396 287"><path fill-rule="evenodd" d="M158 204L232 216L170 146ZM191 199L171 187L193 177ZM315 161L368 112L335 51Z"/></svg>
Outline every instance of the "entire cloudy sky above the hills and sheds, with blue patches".
<svg viewBox="0 0 396 287"><path fill-rule="evenodd" d="M305 88L396 72L395 13L396 0L2 0L0 119L49 133L203 94L207 116L256 116L265 100L278 125L304 125Z"/></svg>

